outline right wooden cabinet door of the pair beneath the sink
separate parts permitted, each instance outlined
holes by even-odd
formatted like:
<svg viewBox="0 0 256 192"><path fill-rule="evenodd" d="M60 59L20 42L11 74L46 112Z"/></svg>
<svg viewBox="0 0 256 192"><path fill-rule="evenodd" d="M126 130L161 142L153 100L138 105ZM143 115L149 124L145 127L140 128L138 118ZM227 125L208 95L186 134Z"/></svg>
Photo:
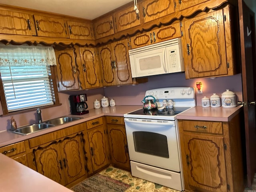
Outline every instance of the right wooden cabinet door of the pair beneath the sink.
<svg viewBox="0 0 256 192"><path fill-rule="evenodd" d="M80 135L77 135L62 142L64 150L62 162L64 170L66 169L64 172L66 184L71 183L85 174L84 152L80 140Z"/></svg>

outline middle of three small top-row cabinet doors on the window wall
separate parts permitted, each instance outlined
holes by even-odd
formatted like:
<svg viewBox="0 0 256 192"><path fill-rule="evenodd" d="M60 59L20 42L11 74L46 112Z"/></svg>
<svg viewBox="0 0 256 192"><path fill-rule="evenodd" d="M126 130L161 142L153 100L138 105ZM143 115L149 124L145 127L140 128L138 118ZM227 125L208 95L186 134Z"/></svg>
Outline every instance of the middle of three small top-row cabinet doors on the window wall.
<svg viewBox="0 0 256 192"><path fill-rule="evenodd" d="M66 21L61 18L34 15L37 36L69 38Z"/></svg>

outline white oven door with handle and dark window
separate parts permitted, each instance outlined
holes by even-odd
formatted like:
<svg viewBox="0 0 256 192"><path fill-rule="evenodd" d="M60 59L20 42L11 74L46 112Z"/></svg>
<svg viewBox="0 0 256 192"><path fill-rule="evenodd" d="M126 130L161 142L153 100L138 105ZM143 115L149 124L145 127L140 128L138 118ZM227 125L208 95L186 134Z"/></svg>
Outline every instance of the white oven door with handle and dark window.
<svg viewBox="0 0 256 192"><path fill-rule="evenodd" d="M124 118L130 160L180 172L175 121Z"/></svg>

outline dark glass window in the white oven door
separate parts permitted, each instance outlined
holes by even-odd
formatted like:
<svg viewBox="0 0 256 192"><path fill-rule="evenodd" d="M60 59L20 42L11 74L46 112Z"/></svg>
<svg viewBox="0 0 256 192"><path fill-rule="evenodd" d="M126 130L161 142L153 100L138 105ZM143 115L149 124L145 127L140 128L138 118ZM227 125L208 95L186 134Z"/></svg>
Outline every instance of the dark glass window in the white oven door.
<svg viewBox="0 0 256 192"><path fill-rule="evenodd" d="M136 131L133 132L136 152L169 158L167 137L162 134Z"/></svg>

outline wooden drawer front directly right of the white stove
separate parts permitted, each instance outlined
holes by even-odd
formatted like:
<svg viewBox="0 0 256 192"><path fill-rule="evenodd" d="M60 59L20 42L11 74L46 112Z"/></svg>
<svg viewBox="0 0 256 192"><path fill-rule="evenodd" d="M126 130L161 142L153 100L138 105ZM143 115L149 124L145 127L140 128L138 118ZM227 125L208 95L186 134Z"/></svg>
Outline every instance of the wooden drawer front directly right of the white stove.
<svg viewBox="0 0 256 192"><path fill-rule="evenodd" d="M222 122L183 120L184 131L223 134Z"/></svg>

